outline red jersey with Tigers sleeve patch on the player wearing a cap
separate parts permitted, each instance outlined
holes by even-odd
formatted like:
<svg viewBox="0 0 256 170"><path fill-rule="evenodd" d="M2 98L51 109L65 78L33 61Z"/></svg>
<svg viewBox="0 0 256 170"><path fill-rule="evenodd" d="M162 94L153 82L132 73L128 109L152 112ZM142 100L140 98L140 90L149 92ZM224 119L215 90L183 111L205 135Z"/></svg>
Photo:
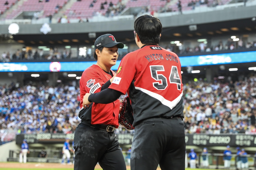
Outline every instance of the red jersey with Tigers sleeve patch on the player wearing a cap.
<svg viewBox="0 0 256 170"><path fill-rule="evenodd" d="M115 75L114 71L112 71L112 73ZM101 86L111 78L111 75L97 65L92 65L84 70L80 79L80 108L83 107L83 96L86 93L92 94L100 92ZM119 108L119 99L109 104L93 103L87 108L87 111L83 115L79 115L79 117L86 120L88 124L114 125L118 128Z"/></svg>

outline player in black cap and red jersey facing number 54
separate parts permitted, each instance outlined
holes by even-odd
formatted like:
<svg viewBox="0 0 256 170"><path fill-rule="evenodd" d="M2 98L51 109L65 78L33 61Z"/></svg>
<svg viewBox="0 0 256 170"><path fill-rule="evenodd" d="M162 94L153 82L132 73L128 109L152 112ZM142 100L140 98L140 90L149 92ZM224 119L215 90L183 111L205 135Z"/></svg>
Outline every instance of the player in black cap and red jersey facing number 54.
<svg viewBox="0 0 256 170"><path fill-rule="evenodd" d="M110 86L115 75L111 67L118 59L118 49L123 47L111 34L101 35L94 43L93 57L97 63L87 68L80 79L79 117L82 120L74 134L74 170L94 170L97 162L104 170L126 170L114 133L119 126L119 99L110 104L91 103L83 108L86 93L97 93Z"/></svg>

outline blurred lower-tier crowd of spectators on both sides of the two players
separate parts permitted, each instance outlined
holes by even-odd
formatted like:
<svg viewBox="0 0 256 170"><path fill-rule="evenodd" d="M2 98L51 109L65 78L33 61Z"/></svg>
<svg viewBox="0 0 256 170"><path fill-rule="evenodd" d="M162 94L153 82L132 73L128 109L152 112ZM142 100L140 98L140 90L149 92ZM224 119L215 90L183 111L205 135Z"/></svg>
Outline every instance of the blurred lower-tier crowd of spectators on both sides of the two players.
<svg viewBox="0 0 256 170"><path fill-rule="evenodd" d="M255 84L256 76L228 83L216 80L184 84L185 132L256 134ZM67 85L1 86L0 129L17 133L74 133L80 122L79 93L79 88ZM120 125L115 132L134 131Z"/></svg>

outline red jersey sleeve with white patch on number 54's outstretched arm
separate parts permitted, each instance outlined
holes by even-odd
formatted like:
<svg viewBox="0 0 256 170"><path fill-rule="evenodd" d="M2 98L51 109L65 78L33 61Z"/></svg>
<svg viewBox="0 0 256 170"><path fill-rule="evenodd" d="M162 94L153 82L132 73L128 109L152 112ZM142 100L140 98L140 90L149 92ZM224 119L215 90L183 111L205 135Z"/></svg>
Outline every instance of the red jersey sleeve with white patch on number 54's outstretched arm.
<svg viewBox="0 0 256 170"><path fill-rule="evenodd" d="M113 79L110 89L118 90L125 94L136 74L136 58L133 56L135 53L127 54L119 65L116 77Z"/></svg>

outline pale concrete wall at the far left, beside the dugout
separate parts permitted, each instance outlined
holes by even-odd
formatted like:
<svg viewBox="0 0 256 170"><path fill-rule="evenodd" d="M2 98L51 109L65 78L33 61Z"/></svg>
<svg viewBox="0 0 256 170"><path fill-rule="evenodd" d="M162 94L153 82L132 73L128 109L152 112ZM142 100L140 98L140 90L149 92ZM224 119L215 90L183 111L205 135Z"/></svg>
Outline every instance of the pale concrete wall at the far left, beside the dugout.
<svg viewBox="0 0 256 170"><path fill-rule="evenodd" d="M10 150L19 150L20 147L16 145L15 141L5 143L0 146L0 162L6 162L7 158L9 157L9 151Z"/></svg>

